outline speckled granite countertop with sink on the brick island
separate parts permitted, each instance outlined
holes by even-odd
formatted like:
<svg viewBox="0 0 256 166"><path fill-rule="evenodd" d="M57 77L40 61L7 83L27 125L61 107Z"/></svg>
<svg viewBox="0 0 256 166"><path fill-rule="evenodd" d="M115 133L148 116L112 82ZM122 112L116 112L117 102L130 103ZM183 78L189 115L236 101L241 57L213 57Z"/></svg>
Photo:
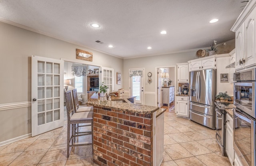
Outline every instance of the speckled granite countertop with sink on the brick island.
<svg viewBox="0 0 256 166"><path fill-rule="evenodd" d="M105 97L103 97L102 99L98 99L98 93L94 93L92 97L88 99L86 104L96 106L96 107L104 107L108 109L116 109L118 111L127 111L131 113L139 113L139 114L149 114L159 110L159 107L133 104L130 101L129 103L118 102L118 100L128 101L128 99L131 99L131 98L134 98L134 96L118 96L118 97L111 97L111 101L109 101L109 100L106 100ZM164 111L159 110L158 112L163 113Z"/></svg>

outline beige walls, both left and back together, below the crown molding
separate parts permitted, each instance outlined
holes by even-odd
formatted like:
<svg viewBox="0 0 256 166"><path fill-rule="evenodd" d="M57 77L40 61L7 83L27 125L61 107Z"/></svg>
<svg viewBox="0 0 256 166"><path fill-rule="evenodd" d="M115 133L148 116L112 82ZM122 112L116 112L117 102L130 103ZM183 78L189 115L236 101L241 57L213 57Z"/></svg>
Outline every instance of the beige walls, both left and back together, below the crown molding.
<svg viewBox="0 0 256 166"><path fill-rule="evenodd" d="M27 119L31 118L31 56L76 60L76 48L93 53L93 61L88 64L114 68L115 90L123 87L128 91L128 70L130 68L144 67L145 83L148 80L147 73L151 72L152 83L145 85L144 88L146 92L145 105L155 105L154 103L156 103L156 94L154 94L156 91L156 67L175 66L176 63L197 58L196 51L190 51L123 60L0 22L0 132L4 134L0 137L0 144L31 132L31 124L26 124ZM121 85L116 85L116 72L122 73ZM17 104L18 108L11 109L7 106L8 103ZM19 103L22 103L23 106ZM9 108L3 109L7 107Z"/></svg>

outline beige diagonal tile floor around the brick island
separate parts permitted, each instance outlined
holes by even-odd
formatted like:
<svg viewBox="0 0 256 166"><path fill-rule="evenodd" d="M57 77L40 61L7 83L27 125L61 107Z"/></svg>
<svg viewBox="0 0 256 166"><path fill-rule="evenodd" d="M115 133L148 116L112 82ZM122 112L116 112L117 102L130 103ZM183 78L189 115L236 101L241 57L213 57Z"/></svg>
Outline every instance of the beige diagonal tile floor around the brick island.
<svg viewBox="0 0 256 166"><path fill-rule="evenodd" d="M161 166L231 166L220 154L215 130L178 118L173 112L164 116ZM65 121L61 128L0 146L0 166L96 166L92 146L74 147L66 158L66 134Z"/></svg>

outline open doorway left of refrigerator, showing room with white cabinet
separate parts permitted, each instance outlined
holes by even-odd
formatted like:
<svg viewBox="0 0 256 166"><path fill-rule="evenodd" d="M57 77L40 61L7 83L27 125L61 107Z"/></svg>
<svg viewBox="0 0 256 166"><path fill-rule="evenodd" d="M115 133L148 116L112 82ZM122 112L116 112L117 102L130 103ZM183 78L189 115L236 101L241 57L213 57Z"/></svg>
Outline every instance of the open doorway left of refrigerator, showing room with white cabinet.
<svg viewBox="0 0 256 166"><path fill-rule="evenodd" d="M176 66L157 67L157 105L175 112Z"/></svg>

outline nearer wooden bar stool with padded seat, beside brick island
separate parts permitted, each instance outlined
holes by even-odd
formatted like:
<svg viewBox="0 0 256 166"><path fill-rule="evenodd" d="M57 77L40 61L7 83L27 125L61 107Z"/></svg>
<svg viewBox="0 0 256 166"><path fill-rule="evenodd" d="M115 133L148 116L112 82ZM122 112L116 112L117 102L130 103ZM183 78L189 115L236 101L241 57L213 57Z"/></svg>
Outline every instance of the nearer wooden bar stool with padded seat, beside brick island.
<svg viewBox="0 0 256 166"><path fill-rule="evenodd" d="M85 111L74 113L73 105L72 105L72 97L71 91L66 91L65 93L66 98L66 110L67 110L67 117L68 117L68 134L67 134L67 158L69 156L69 148L73 146L86 146L92 145L92 142L76 142L79 136L85 135L92 135L93 141L93 111ZM91 126L91 131L86 132L76 132L76 125L82 123L89 123L86 126ZM71 126L71 132L70 132ZM93 148L93 147L92 147Z"/></svg>

